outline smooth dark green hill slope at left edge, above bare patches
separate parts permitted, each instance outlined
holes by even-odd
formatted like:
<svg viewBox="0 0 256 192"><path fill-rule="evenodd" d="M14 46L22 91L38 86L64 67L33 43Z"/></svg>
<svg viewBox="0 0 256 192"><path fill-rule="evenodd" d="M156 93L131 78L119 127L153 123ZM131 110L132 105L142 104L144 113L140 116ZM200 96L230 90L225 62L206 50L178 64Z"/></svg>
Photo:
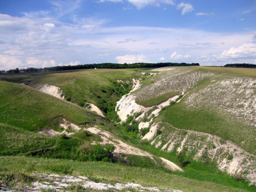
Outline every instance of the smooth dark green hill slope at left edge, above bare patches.
<svg viewBox="0 0 256 192"><path fill-rule="evenodd" d="M103 120L87 109L29 86L0 82L0 123L36 132L51 128L51 120L60 116L76 124Z"/></svg>

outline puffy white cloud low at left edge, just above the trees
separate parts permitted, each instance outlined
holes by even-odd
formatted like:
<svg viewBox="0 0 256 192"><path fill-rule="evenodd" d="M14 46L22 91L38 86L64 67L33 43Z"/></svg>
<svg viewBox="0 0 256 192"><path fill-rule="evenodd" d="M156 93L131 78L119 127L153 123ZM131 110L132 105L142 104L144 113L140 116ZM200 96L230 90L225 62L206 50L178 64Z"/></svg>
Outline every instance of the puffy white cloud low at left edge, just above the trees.
<svg viewBox="0 0 256 192"><path fill-rule="evenodd" d="M15 57L0 54L0 70L20 67L22 61Z"/></svg>

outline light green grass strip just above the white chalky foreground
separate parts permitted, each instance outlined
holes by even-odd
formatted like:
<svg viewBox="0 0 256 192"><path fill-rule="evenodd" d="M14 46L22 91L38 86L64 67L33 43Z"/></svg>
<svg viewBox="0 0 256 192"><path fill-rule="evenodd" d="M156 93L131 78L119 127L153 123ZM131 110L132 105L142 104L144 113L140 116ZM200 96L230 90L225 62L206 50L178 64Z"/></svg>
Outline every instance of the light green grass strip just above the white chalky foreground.
<svg viewBox="0 0 256 192"><path fill-rule="evenodd" d="M70 166L72 174L81 176L100 176L132 181L143 185L167 187L184 191L253 191L246 186L229 186L215 182L198 181L161 170L129 167L106 162L75 162L60 159L29 157L0 157L1 169L23 170L25 172L56 173L56 166Z"/></svg>

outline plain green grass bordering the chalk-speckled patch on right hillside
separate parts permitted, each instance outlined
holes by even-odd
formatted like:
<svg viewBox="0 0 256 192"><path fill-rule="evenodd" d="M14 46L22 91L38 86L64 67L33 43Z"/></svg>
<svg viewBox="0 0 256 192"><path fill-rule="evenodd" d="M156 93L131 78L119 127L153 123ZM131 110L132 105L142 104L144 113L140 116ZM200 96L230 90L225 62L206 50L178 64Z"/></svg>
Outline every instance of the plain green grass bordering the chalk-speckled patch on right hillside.
<svg viewBox="0 0 256 192"><path fill-rule="evenodd" d="M214 68L214 67L195 67L200 70L214 72L220 77L218 80L234 77L256 77L255 69L241 68ZM194 91L203 89L210 83L210 79L204 79L195 87L190 89L189 94ZM171 123L174 127L202 131L222 137L225 140L233 141L246 151L256 154L256 130L253 126L246 125L242 121L236 120L227 113L221 113L215 110L215 107L207 108L200 106L199 109L185 107L184 100L189 96L186 95L181 102L167 108L161 114L163 121ZM231 120L232 119L232 120Z"/></svg>

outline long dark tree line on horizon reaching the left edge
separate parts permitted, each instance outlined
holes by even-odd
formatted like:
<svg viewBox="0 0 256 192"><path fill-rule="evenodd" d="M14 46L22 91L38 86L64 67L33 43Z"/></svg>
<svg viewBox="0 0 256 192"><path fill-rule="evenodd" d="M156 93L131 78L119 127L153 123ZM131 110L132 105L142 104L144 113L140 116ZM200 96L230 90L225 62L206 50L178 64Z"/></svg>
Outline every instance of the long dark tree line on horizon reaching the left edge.
<svg viewBox="0 0 256 192"><path fill-rule="evenodd" d="M68 65L68 66L56 66L56 67L45 67L45 68L26 68L26 69L10 69L8 71L0 71L0 73L20 73L20 72L40 72L40 71L62 71L62 70L73 70L73 69L126 69L126 68L157 68L167 66L192 66L199 63L133 63L133 64L117 64L117 63L99 63L99 64L85 64L85 65Z"/></svg>

